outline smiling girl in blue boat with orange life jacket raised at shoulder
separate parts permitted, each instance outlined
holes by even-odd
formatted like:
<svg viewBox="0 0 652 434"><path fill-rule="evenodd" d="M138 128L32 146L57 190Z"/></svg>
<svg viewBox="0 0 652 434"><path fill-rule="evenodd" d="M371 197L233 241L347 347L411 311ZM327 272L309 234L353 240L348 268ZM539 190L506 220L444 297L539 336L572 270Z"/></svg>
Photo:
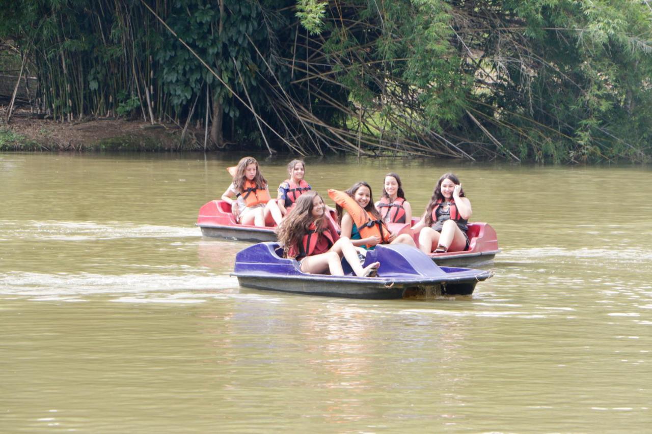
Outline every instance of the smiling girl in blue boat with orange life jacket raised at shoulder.
<svg viewBox="0 0 652 434"><path fill-rule="evenodd" d="M349 237L354 246L363 246L367 250L374 248L376 244L402 243L416 247L408 234L396 235L387 229L374 207L371 187L366 182L356 182L343 193L329 190L329 196L337 203L337 220L342 229L341 235Z"/></svg>

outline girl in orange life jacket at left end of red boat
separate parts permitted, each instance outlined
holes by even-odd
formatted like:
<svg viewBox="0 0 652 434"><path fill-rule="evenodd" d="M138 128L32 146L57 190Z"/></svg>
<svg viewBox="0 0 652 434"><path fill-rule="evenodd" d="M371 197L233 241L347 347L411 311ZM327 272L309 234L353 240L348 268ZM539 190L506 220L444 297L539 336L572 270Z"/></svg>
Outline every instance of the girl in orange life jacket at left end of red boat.
<svg viewBox="0 0 652 434"><path fill-rule="evenodd" d="M260 172L256 158L242 158L231 174L233 182L222 194L222 200L231 203L231 212L237 222L256 226L279 224L283 216L276 201L270 200L267 180ZM234 196L235 200L231 199Z"/></svg>

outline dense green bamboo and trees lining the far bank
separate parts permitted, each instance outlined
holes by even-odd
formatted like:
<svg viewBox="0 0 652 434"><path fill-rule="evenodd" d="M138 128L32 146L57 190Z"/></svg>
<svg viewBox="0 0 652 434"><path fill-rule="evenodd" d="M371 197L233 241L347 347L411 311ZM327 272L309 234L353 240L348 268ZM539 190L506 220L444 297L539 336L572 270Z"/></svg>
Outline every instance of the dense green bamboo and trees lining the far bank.
<svg viewBox="0 0 652 434"><path fill-rule="evenodd" d="M651 24L647 0L0 0L53 119L299 154L646 161Z"/></svg>

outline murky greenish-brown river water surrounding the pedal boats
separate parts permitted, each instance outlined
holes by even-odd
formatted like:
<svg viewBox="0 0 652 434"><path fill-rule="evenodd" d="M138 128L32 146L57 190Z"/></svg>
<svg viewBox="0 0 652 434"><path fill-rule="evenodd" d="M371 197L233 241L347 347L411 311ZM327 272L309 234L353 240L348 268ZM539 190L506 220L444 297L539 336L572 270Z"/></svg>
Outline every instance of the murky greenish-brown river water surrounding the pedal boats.
<svg viewBox="0 0 652 434"><path fill-rule="evenodd" d="M194 226L237 157L0 153L0 432L649 432L650 167L308 158L498 233L472 297L378 301L239 287Z"/></svg>

